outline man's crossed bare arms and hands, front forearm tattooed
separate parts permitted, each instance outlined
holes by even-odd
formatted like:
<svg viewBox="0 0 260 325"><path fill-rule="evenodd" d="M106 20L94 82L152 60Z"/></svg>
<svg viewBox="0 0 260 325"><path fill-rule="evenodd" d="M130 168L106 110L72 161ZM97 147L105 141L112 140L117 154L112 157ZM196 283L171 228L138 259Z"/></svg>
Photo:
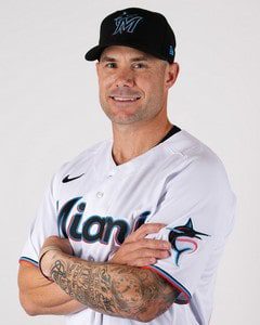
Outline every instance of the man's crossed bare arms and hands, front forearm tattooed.
<svg viewBox="0 0 260 325"><path fill-rule="evenodd" d="M62 243L64 239L54 238L55 245L62 251L47 252L41 263L43 273L54 283L44 277L41 278L44 285L41 286L41 295L39 295L38 287L38 302L34 300L36 299L36 287L31 297L35 306L37 303L39 306L39 302L42 302L39 301L41 299L39 296L42 297L43 294L42 290L46 290L51 299L55 299L53 297L55 291L56 299L60 299L61 303L51 301L49 307L38 308L39 310L31 314L66 314L83 308L91 308L113 316L148 322L164 313L173 303L178 292L159 275L151 270L139 268L167 256L166 247L162 248L162 244L166 243L144 239L144 235L154 232L155 226L145 224L130 235L110 262L89 262L72 257L69 248ZM50 243L50 240L53 238L49 242L47 239L44 246L53 245L53 242ZM20 283L24 284L23 275L21 275ZM24 294L24 300L21 299L21 301L25 306L28 303L26 302L26 299L28 300L26 288L24 287L24 290L21 288L21 292ZM23 294L21 295L23 296ZM55 306L55 303L57 304Z"/></svg>

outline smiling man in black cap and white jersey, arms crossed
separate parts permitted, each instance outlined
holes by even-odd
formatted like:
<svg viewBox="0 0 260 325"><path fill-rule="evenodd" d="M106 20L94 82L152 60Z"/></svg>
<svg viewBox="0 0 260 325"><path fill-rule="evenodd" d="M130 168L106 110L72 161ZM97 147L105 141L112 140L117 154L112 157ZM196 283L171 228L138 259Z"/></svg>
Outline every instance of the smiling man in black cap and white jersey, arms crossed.
<svg viewBox="0 0 260 325"><path fill-rule="evenodd" d="M100 102L113 140L54 176L21 258L28 314L67 324L208 324L235 195L221 160L167 117L179 65L166 18L138 8L101 25Z"/></svg>

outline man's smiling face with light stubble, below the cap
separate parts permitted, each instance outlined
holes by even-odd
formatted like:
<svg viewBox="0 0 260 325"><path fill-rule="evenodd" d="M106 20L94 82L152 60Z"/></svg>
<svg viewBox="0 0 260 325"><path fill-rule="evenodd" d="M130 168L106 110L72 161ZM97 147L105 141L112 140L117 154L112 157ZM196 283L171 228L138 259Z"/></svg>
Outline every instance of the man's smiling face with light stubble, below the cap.
<svg viewBox="0 0 260 325"><path fill-rule="evenodd" d="M129 47L108 47L96 63L100 102L115 123L150 120L166 109L178 64Z"/></svg>

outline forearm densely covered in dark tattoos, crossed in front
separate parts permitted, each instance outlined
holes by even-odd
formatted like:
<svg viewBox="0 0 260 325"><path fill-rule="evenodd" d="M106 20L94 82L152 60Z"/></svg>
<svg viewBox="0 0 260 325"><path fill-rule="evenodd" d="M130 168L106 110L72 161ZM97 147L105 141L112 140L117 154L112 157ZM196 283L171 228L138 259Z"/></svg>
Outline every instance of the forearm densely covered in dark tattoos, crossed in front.
<svg viewBox="0 0 260 325"><path fill-rule="evenodd" d="M176 292L159 275L135 266L57 259L53 281L70 297L104 314L147 321L164 313Z"/></svg>

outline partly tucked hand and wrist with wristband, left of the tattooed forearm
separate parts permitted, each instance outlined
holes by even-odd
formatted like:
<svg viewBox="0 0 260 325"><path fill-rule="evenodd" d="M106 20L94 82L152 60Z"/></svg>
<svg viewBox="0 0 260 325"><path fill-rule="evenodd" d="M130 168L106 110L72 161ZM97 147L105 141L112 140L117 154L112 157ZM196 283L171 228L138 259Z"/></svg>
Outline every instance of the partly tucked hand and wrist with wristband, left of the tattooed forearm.
<svg viewBox="0 0 260 325"><path fill-rule="evenodd" d="M48 247L50 247L50 250L44 252ZM40 256L42 253L43 256L40 260L40 270L46 277L50 278L52 262L53 259L56 258L57 253L73 255L74 251L68 239L60 238L57 236L50 236L46 238L41 247Z"/></svg>

